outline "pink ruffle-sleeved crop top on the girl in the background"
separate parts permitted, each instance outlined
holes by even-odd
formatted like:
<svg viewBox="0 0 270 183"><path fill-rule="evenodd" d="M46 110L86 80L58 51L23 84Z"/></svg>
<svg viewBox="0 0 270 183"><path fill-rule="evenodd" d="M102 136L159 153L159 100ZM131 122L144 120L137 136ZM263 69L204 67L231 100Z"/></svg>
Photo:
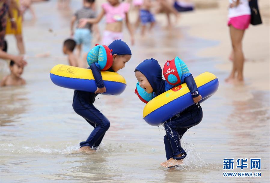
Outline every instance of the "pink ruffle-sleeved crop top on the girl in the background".
<svg viewBox="0 0 270 183"><path fill-rule="evenodd" d="M126 19L126 13L129 11L129 3L120 3L118 6L112 6L110 3L102 4L105 11L106 23L114 23Z"/></svg>

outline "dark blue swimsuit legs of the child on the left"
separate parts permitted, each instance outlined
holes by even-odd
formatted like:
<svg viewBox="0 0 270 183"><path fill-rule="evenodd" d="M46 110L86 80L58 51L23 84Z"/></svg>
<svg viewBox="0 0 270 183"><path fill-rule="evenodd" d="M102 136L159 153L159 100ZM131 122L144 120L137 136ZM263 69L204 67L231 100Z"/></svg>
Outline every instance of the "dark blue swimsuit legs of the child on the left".
<svg viewBox="0 0 270 183"><path fill-rule="evenodd" d="M110 122L93 104L87 101L87 97L89 96L80 91L74 92L72 107L77 114L94 127L86 141L80 143L80 147L89 146L96 149L109 129Z"/></svg>

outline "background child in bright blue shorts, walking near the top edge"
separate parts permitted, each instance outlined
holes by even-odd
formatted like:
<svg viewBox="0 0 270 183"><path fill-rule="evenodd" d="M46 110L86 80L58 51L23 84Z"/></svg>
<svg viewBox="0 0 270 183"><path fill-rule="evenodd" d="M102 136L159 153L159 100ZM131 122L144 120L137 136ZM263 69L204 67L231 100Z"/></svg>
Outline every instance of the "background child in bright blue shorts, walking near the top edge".
<svg viewBox="0 0 270 183"><path fill-rule="evenodd" d="M144 36L147 23L150 23L149 31L155 25L155 18L150 12L152 4L150 0L144 0L140 9L140 19L141 19L141 35Z"/></svg>

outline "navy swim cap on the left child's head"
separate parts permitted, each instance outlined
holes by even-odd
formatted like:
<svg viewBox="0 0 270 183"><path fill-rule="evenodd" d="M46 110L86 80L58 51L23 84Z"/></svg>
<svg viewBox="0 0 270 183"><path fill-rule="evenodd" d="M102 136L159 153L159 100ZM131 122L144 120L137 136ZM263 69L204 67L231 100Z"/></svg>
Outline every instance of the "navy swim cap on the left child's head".
<svg viewBox="0 0 270 183"><path fill-rule="evenodd" d="M121 39L114 40L108 47L113 50L113 55L131 55L129 46Z"/></svg>

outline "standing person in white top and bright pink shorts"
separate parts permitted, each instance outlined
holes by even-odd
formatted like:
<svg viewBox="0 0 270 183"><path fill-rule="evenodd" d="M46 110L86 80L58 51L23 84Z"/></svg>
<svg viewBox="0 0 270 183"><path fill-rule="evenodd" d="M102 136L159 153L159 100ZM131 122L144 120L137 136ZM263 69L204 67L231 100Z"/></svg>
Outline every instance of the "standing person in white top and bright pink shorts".
<svg viewBox="0 0 270 183"><path fill-rule="evenodd" d="M242 39L250 24L251 12L248 0L229 0L228 26L232 41L232 71L226 82L243 82L244 54ZM237 76L235 77L237 73Z"/></svg>

